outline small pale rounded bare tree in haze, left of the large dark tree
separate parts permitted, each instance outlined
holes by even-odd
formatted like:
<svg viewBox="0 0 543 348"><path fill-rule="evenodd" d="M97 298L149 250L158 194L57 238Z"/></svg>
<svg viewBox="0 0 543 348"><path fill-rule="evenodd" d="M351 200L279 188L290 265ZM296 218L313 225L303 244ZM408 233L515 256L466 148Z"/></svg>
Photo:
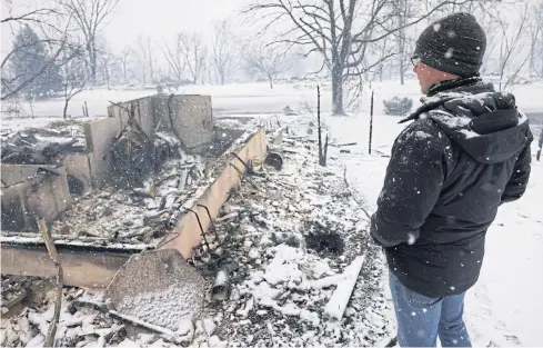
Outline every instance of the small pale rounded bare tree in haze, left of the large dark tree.
<svg viewBox="0 0 543 348"><path fill-rule="evenodd" d="M245 69L250 73L267 78L270 88L273 88L273 81L292 66L291 57L284 47L257 44L245 47L244 51Z"/></svg>

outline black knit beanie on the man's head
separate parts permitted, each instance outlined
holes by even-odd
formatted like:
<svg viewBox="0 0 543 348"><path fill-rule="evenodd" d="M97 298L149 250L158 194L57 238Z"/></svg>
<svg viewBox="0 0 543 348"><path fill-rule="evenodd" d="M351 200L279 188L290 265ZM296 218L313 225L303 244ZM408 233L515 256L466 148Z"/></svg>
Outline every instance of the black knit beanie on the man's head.
<svg viewBox="0 0 543 348"><path fill-rule="evenodd" d="M486 36L475 17L454 13L428 27L416 41L414 56L443 72L479 74L486 49Z"/></svg>

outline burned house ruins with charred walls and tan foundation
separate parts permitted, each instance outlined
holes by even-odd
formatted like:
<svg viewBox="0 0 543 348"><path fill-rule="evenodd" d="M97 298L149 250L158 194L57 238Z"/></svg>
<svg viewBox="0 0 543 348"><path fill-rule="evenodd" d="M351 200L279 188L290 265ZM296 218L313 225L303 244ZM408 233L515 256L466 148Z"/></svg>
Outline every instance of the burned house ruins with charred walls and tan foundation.
<svg viewBox="0 0 543 348"><path fill-rule="evenodd" d="M130 255L160 247L173 229L182 238L169 247L189 257L243 163L265 156L267 131L215 127L209 96L151 96L107 111L2 139L2 274L54 274L40 219L61 258L79 260L66 262L69 285L107 286Z"/></svg>

